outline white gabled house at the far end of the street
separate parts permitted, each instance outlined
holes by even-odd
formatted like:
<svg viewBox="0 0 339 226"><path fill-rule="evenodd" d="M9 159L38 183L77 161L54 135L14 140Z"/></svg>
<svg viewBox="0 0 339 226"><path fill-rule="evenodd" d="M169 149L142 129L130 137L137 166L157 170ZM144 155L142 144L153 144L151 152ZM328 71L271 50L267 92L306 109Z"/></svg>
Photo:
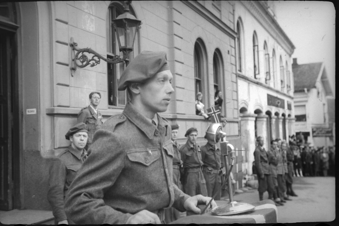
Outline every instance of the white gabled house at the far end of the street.
<svg viewBox="0 0 339 226"><path fill-rule="evenodd" d="M293 58L295 131L305 142L328 146L332 137L326 96L333 95L323 62L298 64Z"/></svg>

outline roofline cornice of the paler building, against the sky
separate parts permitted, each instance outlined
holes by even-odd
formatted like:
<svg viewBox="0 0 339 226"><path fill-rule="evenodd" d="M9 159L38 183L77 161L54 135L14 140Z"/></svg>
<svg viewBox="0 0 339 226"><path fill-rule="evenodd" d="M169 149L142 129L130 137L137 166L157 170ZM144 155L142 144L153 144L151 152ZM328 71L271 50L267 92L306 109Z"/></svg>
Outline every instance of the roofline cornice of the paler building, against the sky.
<svg viewBox="0 0 339 226"><path fill-rule="evenodd" d="M292 41L280 27L274 17L267 11L266 5L262 1L240 1L241 4L250 12L253 17L262 25L262 27L275 38L277 43L292 55L295 49Z"/></svg>

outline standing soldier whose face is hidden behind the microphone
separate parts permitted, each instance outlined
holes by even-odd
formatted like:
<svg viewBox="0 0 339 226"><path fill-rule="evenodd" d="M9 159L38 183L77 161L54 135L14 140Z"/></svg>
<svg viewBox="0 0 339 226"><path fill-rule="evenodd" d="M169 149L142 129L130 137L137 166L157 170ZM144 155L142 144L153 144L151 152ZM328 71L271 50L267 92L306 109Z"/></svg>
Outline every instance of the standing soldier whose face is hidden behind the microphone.
<svg viewBox="0 0 339 226"><path fill-rule="evenodd" d="M206 136L205 136L205 139ZM201 147L201 159L204 163L202 172L206 181L207 195L213 196L219 189L219 193L214 200L220 200L221 197L221 151L216 146L216 143L208 140L207 143Z"/></svg>

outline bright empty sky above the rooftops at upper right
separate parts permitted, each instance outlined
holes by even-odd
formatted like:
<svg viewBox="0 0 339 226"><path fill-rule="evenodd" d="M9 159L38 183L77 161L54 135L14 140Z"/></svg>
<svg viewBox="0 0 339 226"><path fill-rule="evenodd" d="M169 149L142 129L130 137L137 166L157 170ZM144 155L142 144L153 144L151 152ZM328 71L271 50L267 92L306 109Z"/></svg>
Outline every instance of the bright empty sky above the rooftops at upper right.
<svg viewBox="0 0 339 226"><path fill-rule="evenodd" d="M275 1L276 19L298 64L324 62L335 96L335 6L330 1Z"/></svg>

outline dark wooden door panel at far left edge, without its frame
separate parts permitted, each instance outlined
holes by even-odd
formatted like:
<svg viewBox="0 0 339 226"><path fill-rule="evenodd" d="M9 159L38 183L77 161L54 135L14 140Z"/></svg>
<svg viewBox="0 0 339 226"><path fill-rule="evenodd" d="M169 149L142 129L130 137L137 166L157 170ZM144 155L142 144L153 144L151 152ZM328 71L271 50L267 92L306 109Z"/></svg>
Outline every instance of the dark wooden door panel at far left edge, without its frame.
<svg viewBox="0 0 339 226"><path fill-rule="evenodd" d="M12 174L12 78L13 35L0 29L0 209L13 209Z"/></svg>

